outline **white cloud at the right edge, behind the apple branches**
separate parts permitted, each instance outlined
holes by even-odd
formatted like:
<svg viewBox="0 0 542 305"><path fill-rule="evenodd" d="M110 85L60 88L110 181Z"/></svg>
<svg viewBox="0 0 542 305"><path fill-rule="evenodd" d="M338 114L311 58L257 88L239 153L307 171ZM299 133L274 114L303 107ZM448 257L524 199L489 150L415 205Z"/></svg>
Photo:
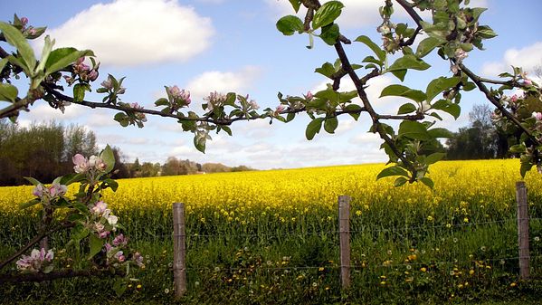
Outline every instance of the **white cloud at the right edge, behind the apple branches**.
<svg viewBox="0 0 542 305"><path fill-rule="evenodd" d="M533 43L521 49L507 50L499 62L486 62L482 66L482 74L495 77L504 71L511 71L510 66L522 67L524 71L533 71L542 65L542 42Z"/></svg>

